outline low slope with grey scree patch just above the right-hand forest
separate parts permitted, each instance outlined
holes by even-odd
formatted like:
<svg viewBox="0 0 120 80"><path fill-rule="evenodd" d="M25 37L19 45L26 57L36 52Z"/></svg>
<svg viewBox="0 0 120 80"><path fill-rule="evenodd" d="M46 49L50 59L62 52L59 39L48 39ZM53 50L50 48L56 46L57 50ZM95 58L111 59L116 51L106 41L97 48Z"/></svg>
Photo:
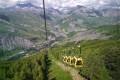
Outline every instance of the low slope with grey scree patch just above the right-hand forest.
<svg viewBox="0 0 120 80"><path fill-rule="evenodd" d="M63 45L67 42L78 42L81 40L119 40L119 30L120 30L120 25L115 24L115 25L104 25L104 26L99 26L95 27L89 30L84 30L84 31L73 31L68 34L68 37L63 39L59 45Z"/></svg>

